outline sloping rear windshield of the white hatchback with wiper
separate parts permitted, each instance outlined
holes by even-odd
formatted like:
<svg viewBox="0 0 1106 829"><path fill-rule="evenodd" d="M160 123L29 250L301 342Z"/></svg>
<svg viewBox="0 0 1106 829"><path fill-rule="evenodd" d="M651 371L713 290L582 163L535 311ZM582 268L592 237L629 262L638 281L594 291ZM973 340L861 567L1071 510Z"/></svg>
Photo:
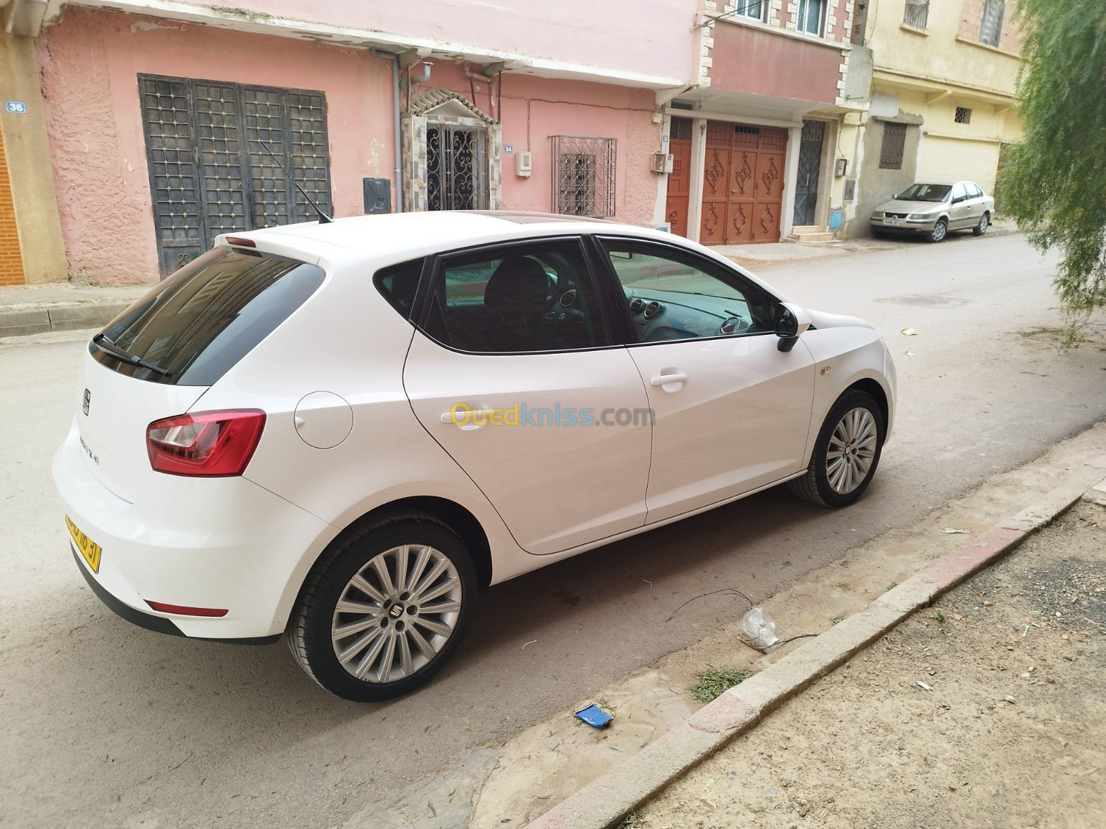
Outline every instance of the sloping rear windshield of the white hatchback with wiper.
<svg viewBox="0 0 1106 829"><path fill-rule="evenodd" d="M300 307L323 276L294 259L217 248L108 323L88 350L140 380L210 386ZM146 366L128 363L121 349Z"/></svg>

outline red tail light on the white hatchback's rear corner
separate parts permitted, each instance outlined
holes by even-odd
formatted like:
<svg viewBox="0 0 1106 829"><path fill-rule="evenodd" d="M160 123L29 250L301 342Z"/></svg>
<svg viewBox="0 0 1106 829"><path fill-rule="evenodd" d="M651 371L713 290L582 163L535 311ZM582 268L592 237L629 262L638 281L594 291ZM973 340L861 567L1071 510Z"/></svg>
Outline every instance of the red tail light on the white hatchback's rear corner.
<svg viewBox="0 0 1106 829"><path fill-rule="evenodd" d="M146 427L146 451L157 472L170 475L240 475L265 426L257 409L200 411L155 420Z"/></svg>

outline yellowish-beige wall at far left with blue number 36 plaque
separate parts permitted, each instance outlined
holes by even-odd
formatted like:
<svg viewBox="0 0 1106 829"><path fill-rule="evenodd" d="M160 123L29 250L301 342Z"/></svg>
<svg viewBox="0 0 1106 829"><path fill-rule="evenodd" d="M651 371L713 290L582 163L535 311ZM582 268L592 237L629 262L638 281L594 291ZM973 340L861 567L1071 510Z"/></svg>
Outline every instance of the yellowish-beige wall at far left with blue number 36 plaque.
<svg viewBox="0 0 1106 829"><path fill-rule="evenodd" d="M34 42L4 32L0 36L0 96L27 105L23 114L0 112L10 198L2 228L6 265L0 284L64 282L65 250Z"/></svg>

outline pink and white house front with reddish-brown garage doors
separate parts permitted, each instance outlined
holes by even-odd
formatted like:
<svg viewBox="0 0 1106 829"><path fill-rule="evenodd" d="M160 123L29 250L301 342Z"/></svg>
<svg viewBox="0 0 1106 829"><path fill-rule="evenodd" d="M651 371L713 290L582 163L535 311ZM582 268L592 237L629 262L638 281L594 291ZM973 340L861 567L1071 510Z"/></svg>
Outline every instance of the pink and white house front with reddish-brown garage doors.
<svg viewBox="0 0 1106 829"><path fill-rule="evenodd" d="M853 2L708 0L695 27L695 83L664 108L672 229L720 245L832 238L855 192L843 133L872 80Z"/></svg>

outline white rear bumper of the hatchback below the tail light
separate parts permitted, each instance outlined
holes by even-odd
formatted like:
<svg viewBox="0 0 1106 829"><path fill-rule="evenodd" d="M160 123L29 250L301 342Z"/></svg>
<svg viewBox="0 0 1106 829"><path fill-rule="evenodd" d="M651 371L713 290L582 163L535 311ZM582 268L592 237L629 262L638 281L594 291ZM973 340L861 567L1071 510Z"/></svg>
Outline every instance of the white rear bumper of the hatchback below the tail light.
<svg viewBox="0 0 1106 829"><path fill-rule="evenodd" d="M77 556L82 575L121 617L163 633L272 641L299 590L295 574L336 532L243 478L150 472L129 503L88 469L75 430L54 455L53 473L66 514L103 550L97 573ZM147 600L227 613L164 613Z"/></svg>

